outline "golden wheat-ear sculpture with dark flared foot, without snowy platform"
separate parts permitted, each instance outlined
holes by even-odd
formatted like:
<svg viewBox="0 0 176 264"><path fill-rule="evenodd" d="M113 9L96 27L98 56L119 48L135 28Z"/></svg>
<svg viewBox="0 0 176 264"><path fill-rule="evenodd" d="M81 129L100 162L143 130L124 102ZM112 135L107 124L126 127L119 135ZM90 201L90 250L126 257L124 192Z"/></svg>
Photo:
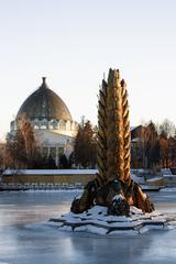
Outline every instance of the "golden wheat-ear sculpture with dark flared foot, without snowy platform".
<svg viewBox="0 0 176 264"><path fill-rule="evenodd" d="M116 216L129 216L130 206L144 212L153 211L153 202L130 175L129 102L119 69L110 68L108 81L102 80L99 92L97 152L97 177L87 184L81 197L75 198L70 210L79 213L99 205L108 207L108 213ZM119 195L123 199L114 201Z"/></svg>

